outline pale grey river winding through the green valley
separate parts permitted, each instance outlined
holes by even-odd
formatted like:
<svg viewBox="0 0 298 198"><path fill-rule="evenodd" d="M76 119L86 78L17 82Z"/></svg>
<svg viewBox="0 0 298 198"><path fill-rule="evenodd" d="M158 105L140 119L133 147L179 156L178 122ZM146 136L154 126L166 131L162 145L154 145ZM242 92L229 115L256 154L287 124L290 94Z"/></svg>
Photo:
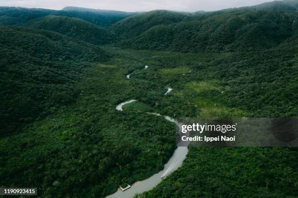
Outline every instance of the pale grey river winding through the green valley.
<svg viewBox="0 0 298 198"><path fill-rule="evenodd" d="M147 69L148 66L145 66L145 69ZM130 78L130 74L127 75L127 78ZM165 93L167 95L172 89L168 88L168 91ZM123 111L122 106L131 102L136 101L135 99L130 99L125 102L121 102L116 106L116 109L118 111ZM160 115L157 113L149 113L150 115L156 115L156 116L163 116L165 119L167 119L170 122L174 122L177 126L180 124L177 122L176 119L167 116L167 115ZM153 187L155 187L157 184L159 184L162 181L162 178L167 177L168 174L170 174L172 171L177 170L183 163L183 161L186 159L186 155L188 152L187 147L177 147L171 156L171 158L168 160L167 164L164 165L164 169L159 171L158 173L152 175L146 180L143 181L137 181L131 185L131 187L122 192L120 189L118 189L117 192L115 192L112 195L107 196L106 198L133 198L135 194L140 194L146 191L151 190Z"/></svg>

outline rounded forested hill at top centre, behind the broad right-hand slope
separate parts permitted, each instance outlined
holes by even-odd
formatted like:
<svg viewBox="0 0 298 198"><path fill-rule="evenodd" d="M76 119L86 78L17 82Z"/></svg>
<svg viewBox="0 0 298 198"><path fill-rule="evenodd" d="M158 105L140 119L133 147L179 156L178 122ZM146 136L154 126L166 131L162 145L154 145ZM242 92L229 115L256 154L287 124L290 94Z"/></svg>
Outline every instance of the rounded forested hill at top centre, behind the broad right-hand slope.
<svg viewBox="0 0 298 198"><path fill-rule="evenodd" d="M130 16L115 23L111 30L120 38L132 38L156 25L169 25L183 20L189 13L168 10L154 10Z"/></svg>

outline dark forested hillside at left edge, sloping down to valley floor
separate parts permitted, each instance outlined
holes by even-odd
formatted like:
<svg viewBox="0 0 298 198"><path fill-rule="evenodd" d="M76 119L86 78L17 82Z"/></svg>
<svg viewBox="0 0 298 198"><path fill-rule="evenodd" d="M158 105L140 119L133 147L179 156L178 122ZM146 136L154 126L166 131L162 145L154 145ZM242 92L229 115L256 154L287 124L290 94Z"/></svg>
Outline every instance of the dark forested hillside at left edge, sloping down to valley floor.
<svg viewBox="0 0 298 198"><path fill-rule="evenodd" d="M14 132L75 101L75 83L86 62L110 56L59 33L0 26L0 133Z"/></svg>

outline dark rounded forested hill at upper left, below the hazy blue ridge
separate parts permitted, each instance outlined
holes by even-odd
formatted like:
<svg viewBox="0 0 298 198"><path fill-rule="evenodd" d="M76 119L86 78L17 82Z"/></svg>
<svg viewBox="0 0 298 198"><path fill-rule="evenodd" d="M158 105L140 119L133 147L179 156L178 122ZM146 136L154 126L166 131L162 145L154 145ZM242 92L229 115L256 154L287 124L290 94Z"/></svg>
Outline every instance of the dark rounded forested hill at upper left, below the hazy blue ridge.
<svg viewBox="0 0 298 198"><path fill-rule="evenodd" d="M107 30L75 17L44 16L33 19L25 23L24 26L62 33L69 37L93 44L108 44L115 40L115 36Z"/></svg>

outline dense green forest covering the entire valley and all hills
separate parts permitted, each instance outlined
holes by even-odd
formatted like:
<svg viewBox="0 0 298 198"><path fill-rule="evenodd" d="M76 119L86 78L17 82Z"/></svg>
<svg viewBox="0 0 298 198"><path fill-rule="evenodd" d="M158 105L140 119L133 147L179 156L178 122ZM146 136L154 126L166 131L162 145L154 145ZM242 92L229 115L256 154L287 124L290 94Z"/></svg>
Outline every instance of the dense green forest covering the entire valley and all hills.
<svg viewBox="0 0 298 198"><path fill-rule="evenodd" d="M95 198L149 178L176 145L175 124L146 112L297 117L297 8L0 7L0 187ZM297 152L189 148L178 170L136 197L295 198Z"/></svg>

